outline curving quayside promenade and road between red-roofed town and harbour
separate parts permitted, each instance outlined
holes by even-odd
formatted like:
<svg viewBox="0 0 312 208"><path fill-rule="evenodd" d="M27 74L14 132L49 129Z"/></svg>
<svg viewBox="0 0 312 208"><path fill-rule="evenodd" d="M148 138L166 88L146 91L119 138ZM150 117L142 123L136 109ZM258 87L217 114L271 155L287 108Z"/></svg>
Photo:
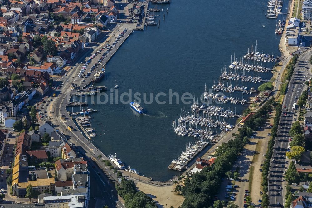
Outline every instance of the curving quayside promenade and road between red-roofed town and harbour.
<svg viewBox="0 0 312 208"><path fill-rule="evenodd" d="M52 97L51 104L49 106L47 105L43 106L44 109L42 110L48 112L47 113L48 117L45 117L44 119L46 121L52 121L54 127L58 128L60 131L64 133L68 141L73 145L74 150L79 151L81 153L85 153L86 156L85 160L88 161L88 165L90 167L92 166L94 167L91 171L91 174L93 175L93 177L98 179L98 183L95 186L93 186L94 187L93 189L96 189L96 186L100 186L102 187L100 189L104 189L103 191L100 191L99 194L101 197L103 197L102 200L105 201L105 204L110 208L116 206L120 208L124 207L123 201L119 200L119 197L115 190L114 181L118 181L118 179L116 178L113 171L107 169L105 164L102 162L102 160L108 160L108 158L103 153L101 153L96 146L92 144L92 140L88 140L85 138L84 134L82 134L82 132L76 126L74 121L71 119L70 115L66 111L66 105L70 101L71 95L75 93L70 90L71 83L76 83L79 87L84 87L86 85L85 82L81 82L81 79L76 78L83 63L89 58L90 55L93 54L94 51L99 51L107 44L112 45L112 43L115 41L115 37L118 36L118 34L120 33L118 30L128 28L127 26L124 23L119 24L114 29L114 31L109 34L109 37L107 37L106 41L103 41L101 44L95 45L94 47L85 49L84 54L78 57L78 59L76 60L76 64L72 67L71 70L67 72L67 77L61 77L59 80L56 80L63 82L64 85L61 87L61 91L51 92L51 95L53 93L56 93L56 97ZM106 57L105 63L109 61L109 59L114 55L114 53L117 51L120 45L125 41L125 39L132 34L133 30L131 26L133 25L130 24L129 26L130 27L128 28L127 33L124 35L124 38L122 38L117 43L116 47L113 48L112 51L109 53L109 55ZM86 54L88 54L89 56ZM95 59L93 60L94 62L96 61ZM87 79L86 82L87 84L90 83L91 77ZM50 98L47 97L47 100L48 99ZM66 119L62 120L61 115L65 115ZM67 129L67 126L73 126L75 130L69 131ZM99 158L98 157L99 155L101 155L102 157ZM89 160L89 158L91 160ZM106 176L100 170L102 170ZM95 199L94 204L100 206L101 203L97 203L97 200ZM97 206L96 208L98 208Z"/></svg>

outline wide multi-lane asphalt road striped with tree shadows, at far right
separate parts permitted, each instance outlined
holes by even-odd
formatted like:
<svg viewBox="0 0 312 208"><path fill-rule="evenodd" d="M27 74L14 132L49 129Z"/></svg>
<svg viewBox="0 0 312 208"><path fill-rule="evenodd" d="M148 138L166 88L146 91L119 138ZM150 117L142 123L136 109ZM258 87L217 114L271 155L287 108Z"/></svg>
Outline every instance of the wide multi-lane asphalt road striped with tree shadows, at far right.
<svg viewBox="0 0 312 208"><path fill-rule="evenodd" d="M282 115L280 117L280 125L278 128L278 137L275 138L275 145L271 161L271 168L269 172L269 201L270 207L280 207L285 203L285 185L283 173L288 166L288 159L286 159L286 152L289 145L289 130L299 111L292 110L294 103L297 103L298 97L307 88L304 84L305 80L311 78L309 59L311 50L308 50L300 55L295 66L294 74L288 85L284 102L282 104ZM304 76L307 76L305 78ZM287 110L288 109L288 110ZM298 109L298 106L296 106ZM295 113L296 112L296 113ZM286 116L284 115L286 113ZM274 160L274 161L273 161ZM286 162L287 161L287 162Z"/></svg>

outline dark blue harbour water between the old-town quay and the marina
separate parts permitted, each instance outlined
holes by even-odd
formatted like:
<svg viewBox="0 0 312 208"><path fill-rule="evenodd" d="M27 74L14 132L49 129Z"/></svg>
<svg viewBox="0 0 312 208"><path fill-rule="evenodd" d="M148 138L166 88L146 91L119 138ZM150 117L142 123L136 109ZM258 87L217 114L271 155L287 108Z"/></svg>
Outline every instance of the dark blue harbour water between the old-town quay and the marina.
<svg viewBox="0 0 312 208"><path fill-rule="evenodd" d="M157 93L164 92L167 96L159 99L167 103L141 103L148 111L146 115L139 115L129 104L92 106L99 110L92 114L92 127L98 134L95 145L106 155L117 153L126 166L154 180L168 180L178 175L179 172L168 170L167 166L185 149L185 143L194 138L177 136L172 121L178 119L183 107L188 110L191 104L184 105L181 100L176 104L175 97L174 104L169 104L169 89L179 96L189 92L199 97L205 83L209 88L214 78L217 82L224 63L226 67L230 64L231 55L235 53L235 58L240 59L251 44L256 47L256 40L260 52L280 55L276 20L266 19L263 12L266 3L266 0L196 3L172 0L170 5L158 5L164 11L169 8L165 21L160 12L159 28L149 26L146 31L135 31L106 65L105 78L98 85L111 88L116 78L119 95L131 89L132 95L147 93L149 100L150 93L154 93L155 99ZM287 7L284 5L283 11L287 11ZM271 77L271 73L260 75L265 79ZM232 85L235 86L235 82ZM241 99L241 93L232 95ZM235 108L241 113L246 106L233 106ZM229 122L234 124L235 120Z"/></svg>

